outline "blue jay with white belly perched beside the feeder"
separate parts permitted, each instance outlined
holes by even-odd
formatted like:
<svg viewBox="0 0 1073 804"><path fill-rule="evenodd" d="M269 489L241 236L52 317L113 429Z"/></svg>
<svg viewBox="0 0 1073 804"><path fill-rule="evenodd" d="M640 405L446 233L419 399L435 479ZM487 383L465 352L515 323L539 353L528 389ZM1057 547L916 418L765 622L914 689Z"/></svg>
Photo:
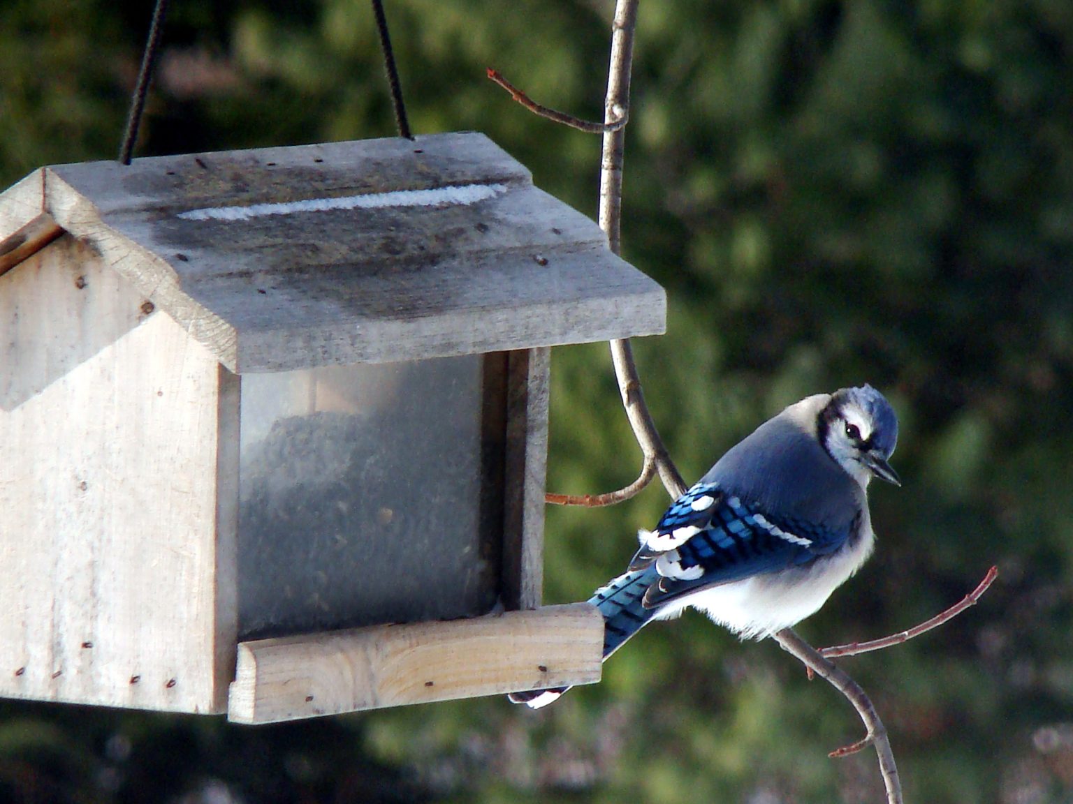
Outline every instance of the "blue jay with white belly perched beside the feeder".
<svg viewBox="0 0 1073 804"><path fill-rule="evenodd" d="M869 385L790 405L731 448L678 497L626 572L589 598L604 616L603 658L651 620L687 606L741 639L817 612L874 546L866 491L887 463L898 419ZM567 690L514 693L533 709Z"/></svg>

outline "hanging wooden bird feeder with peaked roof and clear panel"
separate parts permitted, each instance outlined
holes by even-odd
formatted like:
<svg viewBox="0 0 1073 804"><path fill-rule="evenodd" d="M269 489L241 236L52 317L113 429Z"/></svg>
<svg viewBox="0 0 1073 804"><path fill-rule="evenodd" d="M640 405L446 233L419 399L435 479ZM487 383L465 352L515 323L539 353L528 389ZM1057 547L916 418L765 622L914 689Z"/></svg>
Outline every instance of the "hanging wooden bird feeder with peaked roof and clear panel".
<svg viewBox="0 0 1073 804"><path fill-rule="evenodd" d="M548 347L665 299L480 134L0 195L0 695L266 723L600 675Z"/></svg>

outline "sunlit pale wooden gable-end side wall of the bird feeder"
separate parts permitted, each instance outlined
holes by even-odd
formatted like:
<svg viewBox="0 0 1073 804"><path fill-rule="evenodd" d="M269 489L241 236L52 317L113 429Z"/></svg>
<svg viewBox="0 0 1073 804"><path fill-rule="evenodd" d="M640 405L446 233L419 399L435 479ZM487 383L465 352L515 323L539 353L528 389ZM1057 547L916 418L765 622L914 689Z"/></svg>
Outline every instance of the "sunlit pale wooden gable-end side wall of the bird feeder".
<svg viewBox="0 0 1073 804"><path fill-rule="evenodd" d="M236 378L70 236L0 276L0 695L221 711Z"/></svg>

